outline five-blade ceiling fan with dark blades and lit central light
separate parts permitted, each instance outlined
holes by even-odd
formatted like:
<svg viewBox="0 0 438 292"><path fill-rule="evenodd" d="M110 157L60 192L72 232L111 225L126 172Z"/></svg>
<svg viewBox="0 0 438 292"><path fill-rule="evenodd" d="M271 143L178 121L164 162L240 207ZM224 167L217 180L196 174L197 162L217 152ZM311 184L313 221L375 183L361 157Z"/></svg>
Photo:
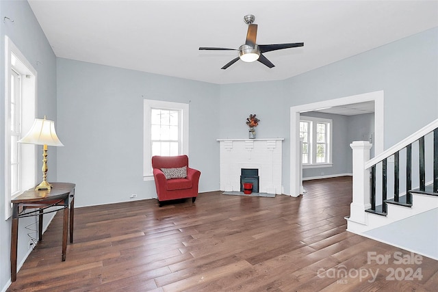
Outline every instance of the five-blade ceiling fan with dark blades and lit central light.
<svg viewBox="0 0 438 292"><path fill-rule="evenodd" d="M295 42L289 44L256 44L255 40L257 38L257 25L254 24L255 16L253 14L248 14L244 16L244 21L248 25L248 33L246 34L246 42L239 47L239 49L227 49L227 48L215 48L215 47L200 47L200 50L207 51L239 51L239 57L232 59L230 62L225 64L221 69L227 69L229 66L233 65L237 60L242 59L244 62L254 62L259 61L265 64L269 68L274 67L274 64L270 62L262 53L276 51L281 49L289 49L295 47L304 46L304 42Z"/></svg>

